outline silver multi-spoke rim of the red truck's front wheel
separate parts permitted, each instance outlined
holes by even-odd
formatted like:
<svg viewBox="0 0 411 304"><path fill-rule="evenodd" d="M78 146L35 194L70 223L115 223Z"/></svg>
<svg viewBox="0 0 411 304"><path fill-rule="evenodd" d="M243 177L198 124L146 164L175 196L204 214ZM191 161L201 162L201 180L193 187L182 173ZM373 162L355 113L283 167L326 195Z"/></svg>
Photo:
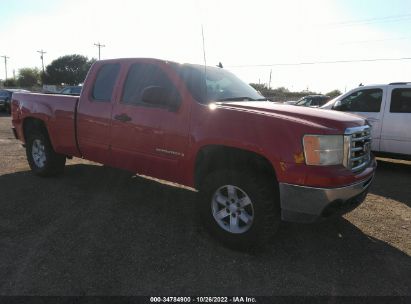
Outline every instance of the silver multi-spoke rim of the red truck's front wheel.
<svg viewBox="0 0 411 304"><path fill-rule="evenodd" d="M217 224L230 233L244 233L253 224L253 203L247 193L236 186L220 187L213 195L211 210Z"/></svg>

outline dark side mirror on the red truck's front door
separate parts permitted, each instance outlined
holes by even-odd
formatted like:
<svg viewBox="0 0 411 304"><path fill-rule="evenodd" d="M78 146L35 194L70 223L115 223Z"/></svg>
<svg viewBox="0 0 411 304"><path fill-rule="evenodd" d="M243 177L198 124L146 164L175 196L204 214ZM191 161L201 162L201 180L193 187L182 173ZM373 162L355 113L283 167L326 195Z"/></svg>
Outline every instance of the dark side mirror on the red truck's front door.
<svg viewBox="0 0 411 304"><path fill-rule="evenodd" d="M176 111L180 106L178 94L160 86L145 88L142 94L142 101L153 106L166 107L170 111Z"/></svg>

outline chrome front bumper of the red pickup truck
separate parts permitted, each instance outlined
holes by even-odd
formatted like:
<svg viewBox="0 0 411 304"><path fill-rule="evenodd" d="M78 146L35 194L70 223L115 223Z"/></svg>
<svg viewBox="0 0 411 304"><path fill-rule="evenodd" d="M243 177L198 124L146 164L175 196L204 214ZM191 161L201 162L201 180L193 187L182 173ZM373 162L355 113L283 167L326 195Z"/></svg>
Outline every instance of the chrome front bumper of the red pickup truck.
<svg viewBox="0 0 411 304"><path fill-rule="evenodd" d="M280 183L281 218L310 223L334 214L347 213L365 199L374 174L340 188L315 188Z"/></svg>

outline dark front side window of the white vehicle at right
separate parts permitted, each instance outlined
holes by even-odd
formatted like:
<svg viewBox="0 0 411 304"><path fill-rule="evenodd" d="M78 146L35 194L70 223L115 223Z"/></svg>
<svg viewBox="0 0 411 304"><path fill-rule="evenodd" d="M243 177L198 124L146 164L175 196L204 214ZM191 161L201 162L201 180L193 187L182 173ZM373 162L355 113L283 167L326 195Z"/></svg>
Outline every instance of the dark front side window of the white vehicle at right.
<svg viewBox="0 0 411 304"><path fill-rule="evenodd" d="M337 101L333 109L347 112L380 112L381 102L381 89L359 90Z"/></svg>

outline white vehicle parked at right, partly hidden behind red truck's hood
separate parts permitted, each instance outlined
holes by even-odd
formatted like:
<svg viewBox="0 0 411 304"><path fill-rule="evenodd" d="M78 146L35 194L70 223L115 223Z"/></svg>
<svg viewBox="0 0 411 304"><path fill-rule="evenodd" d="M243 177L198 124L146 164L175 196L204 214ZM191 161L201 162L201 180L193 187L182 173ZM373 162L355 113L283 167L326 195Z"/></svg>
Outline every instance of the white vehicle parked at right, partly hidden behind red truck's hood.
<svg viewBox="0 0 411 304"><path fill-rule="evenodd" d="M321 108L366 118L372 126L371 150L376 155L411 158L411 83L360 86Z"/></svg>

